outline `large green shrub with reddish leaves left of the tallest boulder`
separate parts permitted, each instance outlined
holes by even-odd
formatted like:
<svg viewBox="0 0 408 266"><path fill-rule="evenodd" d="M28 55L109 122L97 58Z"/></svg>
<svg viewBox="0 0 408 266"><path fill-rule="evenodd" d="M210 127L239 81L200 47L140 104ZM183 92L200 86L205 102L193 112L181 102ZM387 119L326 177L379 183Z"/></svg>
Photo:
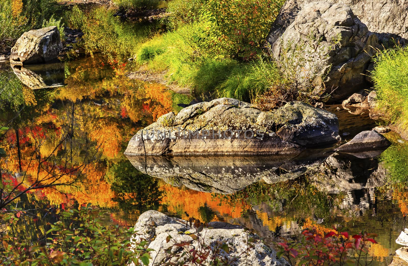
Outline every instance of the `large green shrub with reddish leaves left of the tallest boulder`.
<svg viewBox="0 0 408 266"><path fill-rule="evenodd" d="M207 0L201 16L206 49L226 57L255 57L284 2Z"/></svg>

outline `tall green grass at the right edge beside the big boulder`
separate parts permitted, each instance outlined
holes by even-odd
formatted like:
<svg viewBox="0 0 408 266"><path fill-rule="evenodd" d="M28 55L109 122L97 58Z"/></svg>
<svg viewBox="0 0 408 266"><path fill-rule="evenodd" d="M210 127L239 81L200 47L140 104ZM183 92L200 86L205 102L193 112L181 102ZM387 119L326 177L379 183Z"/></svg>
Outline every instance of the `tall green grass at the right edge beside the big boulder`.
<svg viewBox="0 0 408 266"><path fill-rule="evenodd" d="M408 47L385 49L378 52L372 71L377 91L377 109L392 123L408 129Z"/></svg>

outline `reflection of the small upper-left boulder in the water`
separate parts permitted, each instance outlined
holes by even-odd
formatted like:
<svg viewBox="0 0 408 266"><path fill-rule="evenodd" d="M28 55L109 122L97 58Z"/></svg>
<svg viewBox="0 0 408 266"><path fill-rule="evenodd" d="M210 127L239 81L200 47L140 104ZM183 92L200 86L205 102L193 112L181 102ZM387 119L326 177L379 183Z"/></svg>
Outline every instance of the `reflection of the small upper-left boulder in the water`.
<svg viewBox="0 0 408 266"><path fill-rule="evenodd" d="M55 88L64 86L65 64L57 62L40 65L11 65L14 74L31 89Z"/></svg>

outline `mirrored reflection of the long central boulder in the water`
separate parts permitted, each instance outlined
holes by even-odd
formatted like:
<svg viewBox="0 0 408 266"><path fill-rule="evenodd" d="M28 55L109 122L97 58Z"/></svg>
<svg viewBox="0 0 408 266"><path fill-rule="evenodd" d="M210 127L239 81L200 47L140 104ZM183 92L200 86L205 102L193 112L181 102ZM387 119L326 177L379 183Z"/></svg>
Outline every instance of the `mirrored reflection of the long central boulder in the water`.
<svg viewBox="0 0 408 266"><path fill-rule="evenodd" d="M268 184L294 179L327 157L270 156L128 156L132 165L166 183L195 191L230 194L259 180Z"/></svg>

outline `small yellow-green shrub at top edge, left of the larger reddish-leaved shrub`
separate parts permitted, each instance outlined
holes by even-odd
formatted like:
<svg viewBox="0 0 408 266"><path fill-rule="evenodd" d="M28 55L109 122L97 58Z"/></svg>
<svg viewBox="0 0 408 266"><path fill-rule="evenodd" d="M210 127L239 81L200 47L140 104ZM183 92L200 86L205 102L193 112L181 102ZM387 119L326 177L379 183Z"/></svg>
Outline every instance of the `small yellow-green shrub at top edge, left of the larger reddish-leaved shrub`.
<svg viewBox="0 0 408 266"><path fill-rule="evenodd" d="M204 0L172 0L169 2L166 24L170 29L177 29L184 24L198 21Z"/></svg>

